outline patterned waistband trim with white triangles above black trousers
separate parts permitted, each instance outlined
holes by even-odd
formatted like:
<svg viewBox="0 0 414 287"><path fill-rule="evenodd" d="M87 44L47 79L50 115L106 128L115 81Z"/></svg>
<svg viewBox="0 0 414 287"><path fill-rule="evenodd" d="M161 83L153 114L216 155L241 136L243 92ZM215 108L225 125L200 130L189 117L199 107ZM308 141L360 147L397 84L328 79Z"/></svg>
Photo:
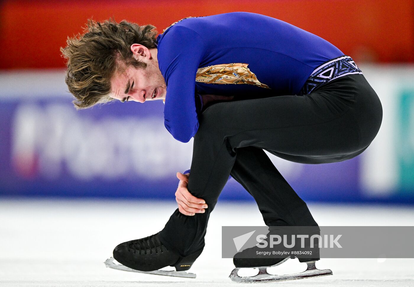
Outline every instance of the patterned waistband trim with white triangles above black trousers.
<svg viewBox="0 0 414 287"><path fill-rule="evenodd" d="M333 79L351 74L362 74L361 70L349 56L342 56L330 60L316 68L306 80L300 92L301 95L310 94L315 88L326 84Z"/></svg>

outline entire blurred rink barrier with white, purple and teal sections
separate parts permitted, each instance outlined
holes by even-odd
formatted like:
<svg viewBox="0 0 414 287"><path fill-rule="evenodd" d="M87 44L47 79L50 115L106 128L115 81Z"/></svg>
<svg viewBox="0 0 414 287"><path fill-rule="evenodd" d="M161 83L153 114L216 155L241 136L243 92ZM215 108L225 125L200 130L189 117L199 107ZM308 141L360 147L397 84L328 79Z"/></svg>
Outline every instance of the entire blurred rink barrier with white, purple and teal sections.
<svg viewBox="0 0 414 287"><path fill-rule="evenodd" d="M361 70L384 109L364 153L322 165L267 154L307 202L414 203L414 70ZM19 93L19 76L0 74L0 195L173 199L176 172L190 169L193 140L184 144L168 133L161 101L76 111L64 83L44 88L64 74L48 78L32 79L39 86ZM253 200L232 178L221 199Z"/></svg>

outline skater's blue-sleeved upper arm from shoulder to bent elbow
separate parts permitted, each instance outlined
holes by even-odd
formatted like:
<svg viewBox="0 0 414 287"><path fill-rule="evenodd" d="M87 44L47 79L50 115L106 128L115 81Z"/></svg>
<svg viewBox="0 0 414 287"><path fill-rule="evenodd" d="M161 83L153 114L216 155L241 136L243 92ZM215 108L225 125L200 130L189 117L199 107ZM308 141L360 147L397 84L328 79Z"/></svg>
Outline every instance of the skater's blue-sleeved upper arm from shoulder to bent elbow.
<svg viewBox="0 0 414 287"><path fill-rule="evenodd" d="M164 125L174 139L186 143L198 130L195 77L206 47L192 29L174 26L158 48L159 68L167 85Z"/></svg>

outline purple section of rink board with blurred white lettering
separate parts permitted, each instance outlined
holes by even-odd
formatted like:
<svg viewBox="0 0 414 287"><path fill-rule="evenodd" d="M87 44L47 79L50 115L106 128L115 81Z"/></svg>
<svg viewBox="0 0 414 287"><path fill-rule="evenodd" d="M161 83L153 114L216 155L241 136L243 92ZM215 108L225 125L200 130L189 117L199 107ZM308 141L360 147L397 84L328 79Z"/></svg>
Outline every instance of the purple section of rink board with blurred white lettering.
<svg viewBox="0 0 414 287"><path fill-rule="evenodd" d="M162 109L162 102L81 111L69 99L1 103L1 194L173 197L176 172L190 169L193 140L174 140L164 127ZM358 194L358 158L301 165L269 156L304 197L335 195L337 200ZM317 198L310 196L316 191ZM250 195L230 179L222 198Z"/></svg>

